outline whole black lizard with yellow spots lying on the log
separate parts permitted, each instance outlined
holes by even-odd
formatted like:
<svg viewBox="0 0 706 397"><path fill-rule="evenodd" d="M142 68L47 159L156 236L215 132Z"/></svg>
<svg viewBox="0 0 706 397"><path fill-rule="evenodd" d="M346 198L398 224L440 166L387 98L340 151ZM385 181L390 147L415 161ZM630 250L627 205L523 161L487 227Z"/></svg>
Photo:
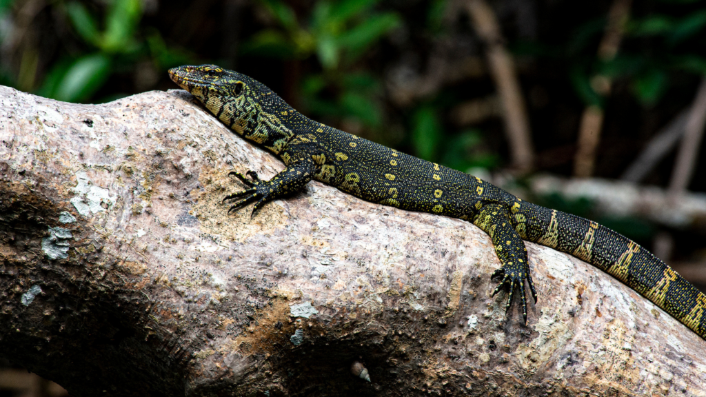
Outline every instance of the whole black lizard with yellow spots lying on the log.
<svg viewBox="0 0 706 397"><path fill-rule="evenodd" d="M502 266L495 295L525 280L537 302L522 239L576 256L640 292L706 340L706 296L635 242L590 220L522 201L488 182L386 148L304 117L262 83L214 65L180 66L172 80L232 130L285 162L269 181L231 172L249 189L227 196L231 211L301 189L311 179L374 203L469 220L488 233Z"/></svg>

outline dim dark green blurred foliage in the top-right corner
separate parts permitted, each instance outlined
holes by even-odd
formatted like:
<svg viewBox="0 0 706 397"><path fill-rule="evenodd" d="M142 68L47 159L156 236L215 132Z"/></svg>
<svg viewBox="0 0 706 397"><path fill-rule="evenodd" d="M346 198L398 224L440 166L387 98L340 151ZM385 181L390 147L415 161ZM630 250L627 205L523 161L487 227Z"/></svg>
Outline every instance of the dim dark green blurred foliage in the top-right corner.
<svg viewBox="0 0 706 397"><path fill-rule="evenodd" d="M673 3L669 11L679 13L680 4L702 1L665 1ZM590 20L570 38L567 54L590 53L598 37L604 35L605 18ZM652 13L633 16L624 27L621 49L614 59L602 61L596 57L578 56L570 72L576 93L587 104L604 106L605 98L597 93L595 76L627 80L633 96L644 107L654 107L669 88L670 76L686 72L706 75L706 57L700 46L686 44L702 35L706 28L706 6L690 9L686 15L672 16ZM649 50L641 45L649 40ZM635 50L639 49L639 50Z"/></svg>

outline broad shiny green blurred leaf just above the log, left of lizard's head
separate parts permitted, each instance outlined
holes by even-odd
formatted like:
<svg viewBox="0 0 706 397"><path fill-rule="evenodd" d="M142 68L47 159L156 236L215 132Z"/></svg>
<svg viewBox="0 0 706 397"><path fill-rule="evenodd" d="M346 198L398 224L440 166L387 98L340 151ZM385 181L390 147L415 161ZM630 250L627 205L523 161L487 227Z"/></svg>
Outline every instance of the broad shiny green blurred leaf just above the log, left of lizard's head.
<svg viewBox="0 0 706 397"><path fill-rule="evenodd" d="M110 58L104 54L77 59L68 66L50 97L64 102L88 100L107 81L109 73Z"/></svg>

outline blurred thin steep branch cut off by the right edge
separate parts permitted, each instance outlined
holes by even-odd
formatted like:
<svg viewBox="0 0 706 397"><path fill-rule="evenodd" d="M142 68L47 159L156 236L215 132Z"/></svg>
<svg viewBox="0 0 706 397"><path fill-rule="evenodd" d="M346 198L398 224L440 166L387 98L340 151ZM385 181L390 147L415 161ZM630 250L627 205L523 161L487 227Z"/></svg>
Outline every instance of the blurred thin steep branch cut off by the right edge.
<svg viewBox="0 0 706 397"><path fill-rule="evenodd" d="M672 195L685 191L691 180L696 166L698 150L701 146L704 124L706 123L706 77L701 79L701 84L696 92L693 105L689 112L684 137L681 140L679 151L676 154L676 165L671 174L669 192Z"/></svg>

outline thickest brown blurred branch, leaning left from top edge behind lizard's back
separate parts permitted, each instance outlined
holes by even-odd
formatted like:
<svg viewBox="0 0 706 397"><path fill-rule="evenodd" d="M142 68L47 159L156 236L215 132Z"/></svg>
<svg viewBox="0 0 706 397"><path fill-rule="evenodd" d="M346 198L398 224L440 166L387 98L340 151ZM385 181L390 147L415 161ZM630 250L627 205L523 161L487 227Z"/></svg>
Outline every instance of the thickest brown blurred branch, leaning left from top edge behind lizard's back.
<svg viewBox="0 0 706 397"><path fill-rule="evenodd" d="M486 44L488 66L503 106L512 166L520 172L529 172L534 164L530 121L513 59L503 45L500 25L484 0L469 0L467 10L476 32Z"/></svg>

